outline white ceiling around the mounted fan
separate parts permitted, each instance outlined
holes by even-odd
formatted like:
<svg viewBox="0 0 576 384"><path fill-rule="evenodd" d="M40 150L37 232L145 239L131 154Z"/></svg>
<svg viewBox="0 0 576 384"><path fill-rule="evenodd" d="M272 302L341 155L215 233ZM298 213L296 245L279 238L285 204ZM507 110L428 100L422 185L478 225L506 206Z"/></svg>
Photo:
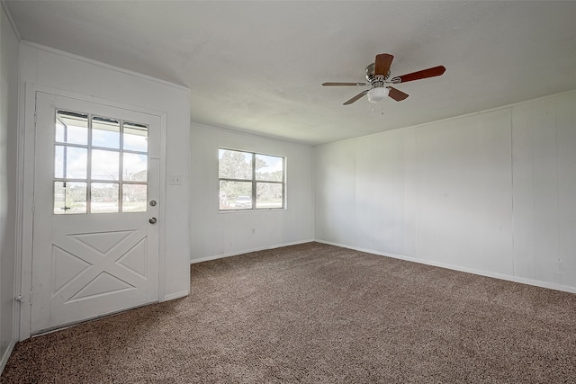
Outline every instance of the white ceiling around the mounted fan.
<svg viewBox="0 0 576 384"><path fill-rule="evenodd" d="M192 90L192 121L317 145L576 89L576 2L8 1L23 40ZM402 102L366 98L377 53Z"/></svg>

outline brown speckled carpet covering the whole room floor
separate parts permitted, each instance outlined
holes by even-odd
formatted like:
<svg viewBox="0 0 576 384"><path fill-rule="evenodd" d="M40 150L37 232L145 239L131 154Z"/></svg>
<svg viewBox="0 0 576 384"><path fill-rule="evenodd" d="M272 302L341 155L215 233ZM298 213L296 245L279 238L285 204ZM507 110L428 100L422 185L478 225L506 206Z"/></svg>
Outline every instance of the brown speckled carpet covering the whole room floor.
<svg viewBox="0 0 576 384"><path fill-rule="evenodd" d="M2 383L576 383L576 295L319 243L16 345Z"/></svg>

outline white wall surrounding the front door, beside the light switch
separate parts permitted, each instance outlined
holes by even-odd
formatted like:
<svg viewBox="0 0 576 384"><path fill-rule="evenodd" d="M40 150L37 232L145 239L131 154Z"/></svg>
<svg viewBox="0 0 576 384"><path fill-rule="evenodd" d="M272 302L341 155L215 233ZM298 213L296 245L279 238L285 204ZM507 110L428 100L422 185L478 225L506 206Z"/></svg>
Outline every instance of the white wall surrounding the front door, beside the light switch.
<svg viewBox="0 0 576 384"><path fill-rule="evenodd" d="M23 43L22 79L26 84L24 106L26 132L26 159L24 171L23 206L31 204L31 152L33 139L33 109L35 89L51 90L65 95L84 95L89 98L112 101L124 107L133 107L164 116L166 129L166 177L181 176L181 184L163 187L163 213L160 223L160 300L175 299L189 292L189 152L190 147L190 91L147 76L106 66L85 58L78 58L31 43ZM161 172L162 174L162 172ZM28 193L27 193L28 192ZM29 217L29 216L28 216ZM31 222L23 223L23 290L31 281L30 268ZM27 280L27 281L26 281ZM24 306L23 306L24 307ZM24 313L24 312L23 312ZM21 329L21 338L25 337Z"/></svg>

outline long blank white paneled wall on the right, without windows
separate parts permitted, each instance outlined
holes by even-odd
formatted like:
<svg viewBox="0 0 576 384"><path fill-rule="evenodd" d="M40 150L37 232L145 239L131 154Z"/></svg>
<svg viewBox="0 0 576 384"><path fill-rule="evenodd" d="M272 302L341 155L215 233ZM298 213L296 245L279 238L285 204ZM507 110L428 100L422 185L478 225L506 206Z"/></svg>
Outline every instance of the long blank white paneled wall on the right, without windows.
<svg viewBox="0 0 576 384"><path fill-rule="evenodd" d="M315 158L317 240L576 291L576 92Z"/></svg>

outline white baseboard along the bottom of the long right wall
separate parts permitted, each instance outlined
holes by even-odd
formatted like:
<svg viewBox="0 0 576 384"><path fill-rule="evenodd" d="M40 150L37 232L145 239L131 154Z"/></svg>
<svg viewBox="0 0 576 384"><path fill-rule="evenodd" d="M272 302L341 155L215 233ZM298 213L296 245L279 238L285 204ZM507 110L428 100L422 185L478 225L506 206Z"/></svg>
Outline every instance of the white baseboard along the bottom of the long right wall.
<svg viewBox="0 0 576 384"><path fill-rule="evenodd" d="M383 252L379 252L379 251L374 251L373 249L360 248L357 246L347 246L344 244L332 243L330 241L324 241L324 240L318 240L318 239L316 239L314 241L316 241L318 243L328 244L330 246L341 246L343 248L353 249L355 251L365 252L367 254L392 257L394 259L406 260L408 262L427 264L427 265L432 265L432 266L436 266L436 267L440 267L440 268L446 268L446 269L450 269L450 270L454 270L454 271L467 272L467 273L477 274L480 276L492 277L492 278L500 279L500 280L514 281L514 282L519 282L522 284L534 285L536 287L547 288L550 290L563 290L565 292L576 293L576 287L561 285L561 284L557 284L554 282L538 281L538 280L527 279L524 277L511 276L511 275L503 274L503 273L482 271L482 270L477 270L477 269L473 269L473 268L466 268L466 267L462 267L462 266L454 265L454 264L438 263L438 262L434 262L434 261L430 261L430 260L418 259L416 257L410 257L410 256L405 256L405 255L394 255L394 254L390 254L390 253L383 253Z"/></svg>

